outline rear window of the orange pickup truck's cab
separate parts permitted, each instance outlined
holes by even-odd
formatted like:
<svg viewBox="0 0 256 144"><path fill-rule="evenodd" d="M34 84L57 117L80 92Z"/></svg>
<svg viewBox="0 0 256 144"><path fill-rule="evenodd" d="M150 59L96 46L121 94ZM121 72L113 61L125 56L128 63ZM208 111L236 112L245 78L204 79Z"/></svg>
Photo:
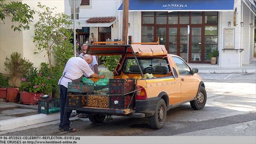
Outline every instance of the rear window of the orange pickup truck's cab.
<svg viewBox="0 0 256 144"><path fill-rule="evenodd" d="M167 74L170 69L167 60L162 58L138 59L143 74ZM140 73L135 59L126 59L123 67L124 73Z"/></svg>

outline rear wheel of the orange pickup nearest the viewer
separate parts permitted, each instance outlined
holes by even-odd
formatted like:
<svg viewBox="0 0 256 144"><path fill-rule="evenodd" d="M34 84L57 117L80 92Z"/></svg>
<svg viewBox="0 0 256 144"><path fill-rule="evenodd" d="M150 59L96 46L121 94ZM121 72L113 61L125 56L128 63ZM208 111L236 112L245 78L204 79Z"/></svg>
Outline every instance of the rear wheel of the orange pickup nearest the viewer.
<svg viewBox="0 0 256 144"><path fill-rule="evenodd" d="M166 103L163 99L159 100L155 115L149 117L149 125L153 129L161 129L166 120Z"/></svg>

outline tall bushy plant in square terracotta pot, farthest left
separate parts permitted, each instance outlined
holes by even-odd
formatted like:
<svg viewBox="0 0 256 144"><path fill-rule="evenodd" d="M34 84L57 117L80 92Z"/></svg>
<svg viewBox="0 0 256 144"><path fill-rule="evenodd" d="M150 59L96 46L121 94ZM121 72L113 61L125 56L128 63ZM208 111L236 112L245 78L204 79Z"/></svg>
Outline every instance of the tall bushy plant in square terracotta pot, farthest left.
<svg viewBox="0 0 256 144"><path fill-rule="evenodd" d="M28 71L28 67L33 65L25 58L21 57L18 52L13 52L10 58L5 58L5 70L9 72L11 87L7 87L6 101L18 101L19 88L17 87L17 80L21 78L22 73Z"/></svg>

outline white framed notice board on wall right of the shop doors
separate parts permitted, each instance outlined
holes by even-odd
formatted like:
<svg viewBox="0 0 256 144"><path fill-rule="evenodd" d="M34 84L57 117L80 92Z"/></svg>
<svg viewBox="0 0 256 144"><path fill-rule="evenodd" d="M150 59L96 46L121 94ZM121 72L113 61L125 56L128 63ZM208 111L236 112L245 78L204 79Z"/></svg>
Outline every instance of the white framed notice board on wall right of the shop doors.
<svg viewBox="0 0 256 144"><path fill-rule="evenodd" d="M235 49L235 28L224 29L224 49Z"/></svg>

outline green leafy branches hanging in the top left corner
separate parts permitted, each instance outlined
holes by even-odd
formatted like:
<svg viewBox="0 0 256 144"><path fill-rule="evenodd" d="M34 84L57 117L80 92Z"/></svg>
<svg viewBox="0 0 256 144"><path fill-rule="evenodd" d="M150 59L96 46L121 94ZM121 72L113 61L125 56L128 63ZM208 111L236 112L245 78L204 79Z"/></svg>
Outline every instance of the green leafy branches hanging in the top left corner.
<svg viewBox="0 0 256 144"><path fill-rule="evenodd" d="M0 0L0 21L9 18L13 23L11 28L14 31L29 29L29 23L32 22L34 13L34 10L31 10L27 4L14 1L6 3L5 0Z"/></svg>

